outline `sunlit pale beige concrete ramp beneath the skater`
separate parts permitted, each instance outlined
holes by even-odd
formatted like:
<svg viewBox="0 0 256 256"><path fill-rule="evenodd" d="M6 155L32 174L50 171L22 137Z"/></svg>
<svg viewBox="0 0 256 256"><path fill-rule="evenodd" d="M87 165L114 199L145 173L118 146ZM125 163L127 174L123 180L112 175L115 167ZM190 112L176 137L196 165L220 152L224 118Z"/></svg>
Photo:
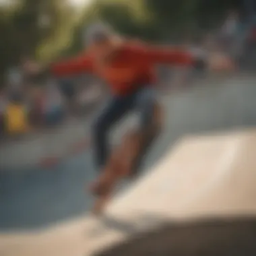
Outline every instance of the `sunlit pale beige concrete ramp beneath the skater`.
<svg viewBox="0 0 256 256"><path fill-rule="evenodd" d="M1 256L85 256L168 221L256 214L256 131L186 137L105 216L1 234Z"/></svg>

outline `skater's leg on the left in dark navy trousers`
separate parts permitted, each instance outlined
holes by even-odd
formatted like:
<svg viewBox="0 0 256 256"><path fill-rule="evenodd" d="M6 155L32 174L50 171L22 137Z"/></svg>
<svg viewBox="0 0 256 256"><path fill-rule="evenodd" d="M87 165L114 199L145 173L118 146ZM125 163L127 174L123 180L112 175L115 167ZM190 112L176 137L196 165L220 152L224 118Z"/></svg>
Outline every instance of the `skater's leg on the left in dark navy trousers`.
<svg viewBox="0 0 256 256"><path fill-rule="evenodd" d="M97 168L102 168L108 158L108 131L131 108L130 97L114 97L106 104L92 125L94 154Z"/></svg>

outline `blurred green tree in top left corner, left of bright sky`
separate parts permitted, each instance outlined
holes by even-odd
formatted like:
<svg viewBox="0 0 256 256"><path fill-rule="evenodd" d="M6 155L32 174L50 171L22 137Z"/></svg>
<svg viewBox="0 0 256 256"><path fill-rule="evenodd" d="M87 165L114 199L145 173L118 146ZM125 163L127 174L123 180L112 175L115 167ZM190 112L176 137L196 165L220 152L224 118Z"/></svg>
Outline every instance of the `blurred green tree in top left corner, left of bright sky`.
<svg viewBox="0 0 256 256"><path fill-rule="evenodd" d="M22 55L49 60L64 48L73 10L66 0L21 0L0 8L1 76Z"/></svg>

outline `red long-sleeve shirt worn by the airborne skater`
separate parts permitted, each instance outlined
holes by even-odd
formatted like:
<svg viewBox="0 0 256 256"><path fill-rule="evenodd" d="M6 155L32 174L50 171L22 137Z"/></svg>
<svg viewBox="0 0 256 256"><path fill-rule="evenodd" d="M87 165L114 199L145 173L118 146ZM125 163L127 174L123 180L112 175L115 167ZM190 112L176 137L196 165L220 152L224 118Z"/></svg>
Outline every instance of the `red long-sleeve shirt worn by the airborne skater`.
<svg viewBox="0 0 256 256"><path fill-rule="evenodd" d="M92 53L52 65L57 76L90 72L104 79L113 94L125 95L139 86L156 82L155 64L191 65L194 59L189 52L174 48L159 48L140 43L123 43L115 57L107 63L98 63Z"/></svg>

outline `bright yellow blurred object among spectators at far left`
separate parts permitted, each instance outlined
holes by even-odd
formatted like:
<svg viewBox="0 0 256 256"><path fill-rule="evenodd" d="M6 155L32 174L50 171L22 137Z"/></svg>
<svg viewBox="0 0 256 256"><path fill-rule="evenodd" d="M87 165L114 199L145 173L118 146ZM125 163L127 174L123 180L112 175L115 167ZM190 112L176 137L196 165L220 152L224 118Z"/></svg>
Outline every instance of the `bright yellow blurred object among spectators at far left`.
<svg viewBox="0 0 256 256"><path fill-rule="evenodd" d="M7 106L5 127L10 135L17 135L28 131L29 125L25 106L12 103Z"/></svg>

